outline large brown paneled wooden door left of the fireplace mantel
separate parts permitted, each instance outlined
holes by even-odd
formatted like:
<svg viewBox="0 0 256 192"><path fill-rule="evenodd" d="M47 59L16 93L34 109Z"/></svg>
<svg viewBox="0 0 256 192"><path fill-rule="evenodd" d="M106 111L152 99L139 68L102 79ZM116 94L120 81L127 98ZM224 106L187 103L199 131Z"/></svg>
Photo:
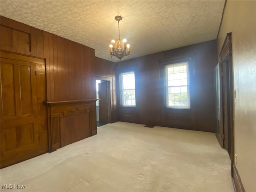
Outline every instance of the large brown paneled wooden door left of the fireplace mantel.
<svg viewBox="0 0 256 192"><path fill-rule="evenodd" d="M36 64L1 58L0 68L3 167L34 156L40 149L40 142Z"/></svg>

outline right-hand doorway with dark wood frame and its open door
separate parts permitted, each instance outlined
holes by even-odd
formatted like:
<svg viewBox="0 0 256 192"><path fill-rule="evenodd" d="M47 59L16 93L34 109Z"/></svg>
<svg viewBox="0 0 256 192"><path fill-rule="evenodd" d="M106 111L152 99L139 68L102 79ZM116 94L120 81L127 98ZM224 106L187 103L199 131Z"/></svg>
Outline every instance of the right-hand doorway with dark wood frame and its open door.
<svg viewBox="0 0 256 192"><path fill-rule="evenodd" d="M216 77L216 137L220 146L228 151L234 162L234 125L233 125L233 64L232 40L228 33L220 52L220 63L215 68Z"/></svg>

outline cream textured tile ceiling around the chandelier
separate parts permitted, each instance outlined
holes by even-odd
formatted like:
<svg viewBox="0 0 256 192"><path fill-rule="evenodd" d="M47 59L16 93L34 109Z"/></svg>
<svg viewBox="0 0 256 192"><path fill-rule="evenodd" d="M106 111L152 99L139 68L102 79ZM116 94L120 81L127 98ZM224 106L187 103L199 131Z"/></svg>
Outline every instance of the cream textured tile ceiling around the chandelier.
<svg viewBox="0 0 256 192"><path fill-rule="evenodd" d="M130 59L216 39L224 0L0 0L0 14L95 49L111 58L109 44L120 37ZM129 59L127 56L122 60Z"/></svg>

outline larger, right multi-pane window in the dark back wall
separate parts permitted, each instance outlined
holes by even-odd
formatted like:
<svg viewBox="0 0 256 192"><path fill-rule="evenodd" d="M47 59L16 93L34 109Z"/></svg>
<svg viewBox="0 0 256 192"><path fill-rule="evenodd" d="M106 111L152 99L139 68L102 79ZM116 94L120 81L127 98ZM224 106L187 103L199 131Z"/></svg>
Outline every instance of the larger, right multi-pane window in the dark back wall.
<svg viewBox="0 0 256 192"><path fill-rule="evenodd" d="M166 107L190 108L188 62L165 66Z"/></svg>

